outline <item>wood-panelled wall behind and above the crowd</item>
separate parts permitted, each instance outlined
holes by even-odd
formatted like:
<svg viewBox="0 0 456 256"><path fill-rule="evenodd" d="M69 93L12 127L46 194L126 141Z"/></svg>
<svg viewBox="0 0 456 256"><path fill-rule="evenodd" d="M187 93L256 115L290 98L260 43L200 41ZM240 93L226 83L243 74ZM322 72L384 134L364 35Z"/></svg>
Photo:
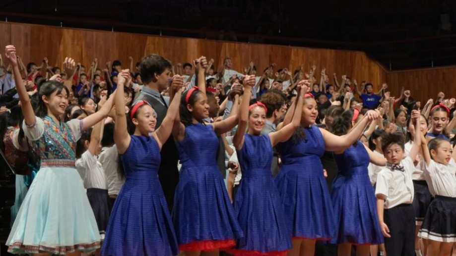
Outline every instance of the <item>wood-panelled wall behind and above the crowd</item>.
<svg viewBox="0 0 456 256"><path fill-rule="evenodd" d="M339 80L342 74L359 82L369 80L376 90L383 82L387 82L392 95L396 96L404 86L412 90L412 96L421 101L429 97L435 98L439 91L456 97L450 92L450 88L456 85L456 67L387 72L361 51L233 43L0 22L0 46L8 44L16 46L25 64L28 61L39 63L46 56L49 65L62 67L65 56L71 56L86 67L96 57L100 68L114 59L119 59L122 66L127 68L129 56L133 57L135 63L145 55L157 53L176 64L190 62L205 55L215 60L216 68L222 65L225 57L231 57L234 69L239 72L250 61L255 62L259 72L272 62L277 63L277 67L287 67L290 70L301 64L305 70L309 70L315 64L318 78L321 68L326 67L330 77L336 73Z"/></svg>

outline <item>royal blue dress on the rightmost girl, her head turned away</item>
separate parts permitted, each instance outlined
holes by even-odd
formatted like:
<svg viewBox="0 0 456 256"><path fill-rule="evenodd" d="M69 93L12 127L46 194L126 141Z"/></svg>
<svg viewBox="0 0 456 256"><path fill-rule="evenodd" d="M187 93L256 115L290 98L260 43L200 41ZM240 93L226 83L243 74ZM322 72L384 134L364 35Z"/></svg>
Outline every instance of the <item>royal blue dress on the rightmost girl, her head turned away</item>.
<svg viewBox="0 0 456 256"><path fill-rule="evenodd" d="M375 191L369 180L370 158L361 142L343 154L334 154L339 172L332 183L331 200L337 234L330 243L383 244Z"/></svg>

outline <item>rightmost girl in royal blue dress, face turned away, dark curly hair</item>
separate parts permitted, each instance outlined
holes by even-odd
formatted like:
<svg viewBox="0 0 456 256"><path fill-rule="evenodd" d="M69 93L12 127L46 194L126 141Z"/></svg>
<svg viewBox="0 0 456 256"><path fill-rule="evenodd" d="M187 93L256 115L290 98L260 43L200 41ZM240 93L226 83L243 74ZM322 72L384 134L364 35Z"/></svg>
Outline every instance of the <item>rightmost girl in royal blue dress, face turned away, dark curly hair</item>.
<svg viewBox="0 0 456 256"><path fill-rule="evenodd" d="M332 133L343 136L352 129L358 110L347 110L334 118ZM335 151L339 172L332 182L331 200L334 209L336 236L330 243L338 244L337 255L369 256L370 245L384 243L377 216L377 200L369 179L369 162L385 166L386 159L374 154L357 141L348 149Z"/></svg>

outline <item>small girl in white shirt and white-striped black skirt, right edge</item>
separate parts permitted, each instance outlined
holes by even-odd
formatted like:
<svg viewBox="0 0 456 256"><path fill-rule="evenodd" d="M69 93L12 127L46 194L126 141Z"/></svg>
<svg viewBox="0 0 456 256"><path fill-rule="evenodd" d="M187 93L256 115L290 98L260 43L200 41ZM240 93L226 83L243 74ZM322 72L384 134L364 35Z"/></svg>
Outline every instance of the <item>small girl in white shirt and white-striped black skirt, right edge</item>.
<svg viewBox="0 0 456 256"><path fill-rule="evenodd" d="M424 174L435 199L429 205L419 236L429 239L426 255L450 255L456 242L456 151L442 138L434 138L429 144L423 140L421 147Z"/></svg>

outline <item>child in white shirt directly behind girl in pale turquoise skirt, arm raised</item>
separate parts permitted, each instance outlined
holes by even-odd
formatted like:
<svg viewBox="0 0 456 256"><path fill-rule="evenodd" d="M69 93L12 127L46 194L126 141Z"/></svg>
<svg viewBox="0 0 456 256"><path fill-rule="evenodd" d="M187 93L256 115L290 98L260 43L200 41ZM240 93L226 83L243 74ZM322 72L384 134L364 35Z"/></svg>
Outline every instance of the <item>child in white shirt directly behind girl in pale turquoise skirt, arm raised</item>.
<svg viewBox="0 0 456 256"><path fill-rule="evenodd" d="M102 241L109 221L108 183L103 165L98 161L103 123L104 120L96 124L91 132L89 130L83 133L76 146L76 169L87 190L87 198L95 214ZM97 253L99 250L100 248Z"/></svg>

